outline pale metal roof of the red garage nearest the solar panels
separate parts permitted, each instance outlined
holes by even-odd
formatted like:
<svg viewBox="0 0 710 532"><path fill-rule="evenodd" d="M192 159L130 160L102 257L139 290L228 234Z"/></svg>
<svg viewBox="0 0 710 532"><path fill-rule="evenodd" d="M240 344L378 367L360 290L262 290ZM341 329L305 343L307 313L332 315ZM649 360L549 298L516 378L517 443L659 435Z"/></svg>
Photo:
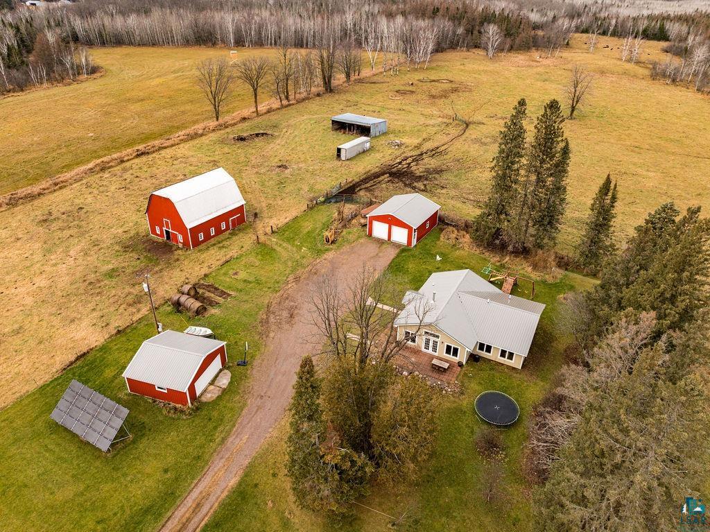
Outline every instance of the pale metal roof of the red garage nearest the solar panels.
<svg viewBox="0 0 710 532"><path fill-rule="evenodd" d="M204 357L225 343L166 330L143 342L123 376L155 386L187 391Z"/></svg>

